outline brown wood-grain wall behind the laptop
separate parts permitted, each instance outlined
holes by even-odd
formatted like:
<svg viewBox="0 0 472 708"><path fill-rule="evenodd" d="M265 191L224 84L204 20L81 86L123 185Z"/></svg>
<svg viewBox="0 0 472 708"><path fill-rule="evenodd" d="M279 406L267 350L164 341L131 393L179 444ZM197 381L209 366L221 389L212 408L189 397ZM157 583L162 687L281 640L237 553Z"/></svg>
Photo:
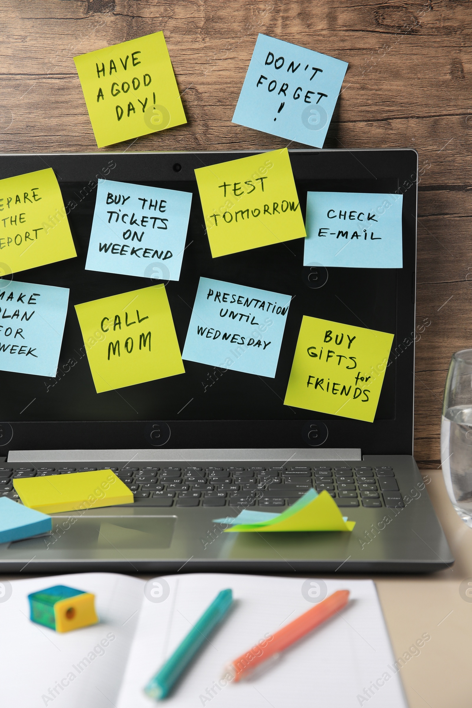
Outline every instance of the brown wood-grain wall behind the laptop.
<svg viewBox="0 0 472 708"><path fill-rule="evenodd" d="M96 151L72 57L151 32L188 125L109 150L284 147L231 125L258 32L349 62L325 147L420 156L415 455L437 467L449 359L472 346L472 2L0 0L0 16L0 152Z"/></svg>

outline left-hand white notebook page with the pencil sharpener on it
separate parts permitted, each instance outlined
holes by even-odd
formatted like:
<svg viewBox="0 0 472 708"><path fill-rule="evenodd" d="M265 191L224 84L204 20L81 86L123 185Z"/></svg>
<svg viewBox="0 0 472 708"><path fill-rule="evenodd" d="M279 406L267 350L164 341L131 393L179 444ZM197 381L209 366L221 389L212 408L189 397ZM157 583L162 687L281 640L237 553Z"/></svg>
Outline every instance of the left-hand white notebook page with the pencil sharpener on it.
<svg viewBox="0 0 472 708"><path fill-rule="evenodd" d="M95 593L100 623L59 634L30 622L28 594L54 585ZM113 708L143 587L144 581L115 573L13 581L11 597L0 603L0 705Z"/></svg>

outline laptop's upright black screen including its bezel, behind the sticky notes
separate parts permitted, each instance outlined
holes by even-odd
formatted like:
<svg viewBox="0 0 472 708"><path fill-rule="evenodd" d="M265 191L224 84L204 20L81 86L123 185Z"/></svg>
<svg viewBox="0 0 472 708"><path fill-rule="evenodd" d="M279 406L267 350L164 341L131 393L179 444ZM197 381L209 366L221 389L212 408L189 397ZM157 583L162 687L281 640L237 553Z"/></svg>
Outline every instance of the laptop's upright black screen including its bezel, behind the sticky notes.
<svg viewBox="0 0 472 708"><path fill-rule="evenodd" d="M352 159L352 155L356 156L355 159ZM97 428L93 424L107 423L107 429L113 430L113 422L122 425L167 421L171 429L179 431L179 437L187 438L181 441L182 447L206 447L211 445L216 430L223 435L221 442L224 439L227 443L237 444L238 435L242 435L244 430L249 432L253 421L255 428L263 423L263 428L259 428L263 438L260 447L281 447L280 440L275 439L280 438L279 431L306 429L307 421L324 421L328 430L335 431L336 438L342 438L344 430L345 440L354 440L355 428L366 430L362 435L367 435L367 439L376 426L378 430L393 431L398 416L406 416L411 423L413 386L405 396L405 386L408 389L410 380L405 382L403 378L402 386L399 385L401 370L398 364L401 358L396 352L399 341L414 331L412 273L414 277L416 185L404 193L401 269L304 266L303 239L212 258L192 168L241 156L245 154L200 154L196 157L184 154L103 153L90 156L48 155L41 159L38 156L7 156L7 163L4 162L1 171L2 178L52 166L59 180L64 204L76 204L69 213L69 224L77 258L10 276L13 280L57 285L70 290L57 376L50 378L0 371L0 390L4 401L2 417L11 423L13 429L22 430L23 435L25 430L29 430L30 435L38 438L40 428L35 423L41 423L43 434L46 432L47 438L50 438L53 434L52 423L60 421L67 423L67 428L63 428L64 435L66 438L71 435L70 444L74 445L74 433L71 431L74 430L74 423L77 423L82 426L81 430L88 431L88 441L80 447L109 447L106 443L97 444L99 435L94 430L100 430L100 426ZM328 159L329 156L331 159ZM413 151L300 151L291 153L291 160L304 218L308 192L394 194L401 192L403 173L408 170L411 173L412 164L415 173L416 165ZM146 278L85 270L98 177L192 193L187 241L178 281L166 280L161 265L148 269L149 277ZM185 375L97 394L74 305L164 282L182 352L197 287L202 277L233 284L236 286L234 290L238 285L258 287L291 298L275 377L252 375L232 370L231 366L216 367L184 360ZM400 288L405 295L405 287L408 292L399 310L398 290ZM340 416L284 405L304 315L395 334L374 423L350 421ZM411 346L410 351L405 351L403 356L405 364L408 359L410 369L413 348ZM236 357L243 353L235 346L234 355ZM399 398L401 389L403 396ZM405 411L406 401L410 401L410 405ZM213 432L212 421L217 426L213 427ZM271 428L272 421L275 428ZM86 423L89 425L84 428ZM200 423L200 427L195 428L196 423ZM21 427L23 424L28 425L24 428ZM235 430L235 424L239 430L237 435L231 433L231 430ZM119 429L125 430L115 428ZM138 429L141 430L139 426L134 428ZM264 435L262 430L265 431ZM300 438L301 433L297 434ZM195 445L198 442L197 435L201 437L201 445ZM296 440L291 435L288 438L293 444ZM289 442L287 435L285 438ZM65 442L64 445L58 440L53 446L67 447L67 440ZM93 442L96 444L93 445ZM332 435L327 444L333 447L333 442ZM306 444L306 440L303 442L300 438L297 447ZM14 447L18 449L18 446L16 440ZM146 445L141 442L136 446ZM217 443L215 446L222 445ZM25 444L25 447L35 445Z"/></svg>

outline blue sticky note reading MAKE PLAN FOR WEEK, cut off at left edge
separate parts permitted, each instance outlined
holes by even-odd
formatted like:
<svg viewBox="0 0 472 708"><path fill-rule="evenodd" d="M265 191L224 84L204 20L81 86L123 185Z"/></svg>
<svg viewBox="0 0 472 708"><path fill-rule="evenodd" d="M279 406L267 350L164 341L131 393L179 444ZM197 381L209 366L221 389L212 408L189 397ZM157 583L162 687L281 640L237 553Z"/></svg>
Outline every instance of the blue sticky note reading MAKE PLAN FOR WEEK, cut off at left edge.
<svg viewBox="0 0 472 708"><path fill-rule="evenodd" d="M69 288L0 280L0 370L57 374Z"/></svg>

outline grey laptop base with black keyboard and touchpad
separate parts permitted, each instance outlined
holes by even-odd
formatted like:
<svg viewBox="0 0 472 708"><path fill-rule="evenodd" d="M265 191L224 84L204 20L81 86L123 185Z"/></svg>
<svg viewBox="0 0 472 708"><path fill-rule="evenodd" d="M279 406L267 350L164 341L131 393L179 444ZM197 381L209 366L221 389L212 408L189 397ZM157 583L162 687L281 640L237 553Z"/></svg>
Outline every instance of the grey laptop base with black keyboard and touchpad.
<svg viewBox="0 0 472 708"><path fill-rule="evenodd" d="M129 462L129 457L109 457L106 464L116 468L117 474L129 474L131 467L138 468L134 470L133 479L142 472L144 474L146 467L159 467L159 472L151 472L155 476L147 478L154 481L134 484L138 489L132 506L54 514L53 530L49 537L24 539L0 546L0 571L372 574L428 573L454 563L427 495L425 481L413 457L365 455L362 460L340 457L322 460L315 459L313 450L302 450L304 460L294 462L292 457L287 462L285 455L274 459L271 453L275 451L272 450L258 450L257 455L254 451L251 459L244 450L241 453L246 452L246 457L241 455L239 459L221 459L214 455L215 451L202 450L192 450L200 454L190 459L188 452L160 450L159 464L156 464L154 455L149 455L151 459L146 460L142 459L144 455L139 454L139 462L134 458L135 464ZM169 459L169 453L172 453L173 459ZM46 467L44 459L33 461L31 453L23 454L28 454L30 468L37 470ZM180 454L183 460L179 465L175 464L176 454ZM11 462L12 457L18 457L18 454L11 454L3 467L15 471L25 468L24 462ZM71 462L67 459L59 464L54 460L54 464L59 469ZM95 458L76 460L76 466L78 469L104 467L103 455L96 451ZM163 467L170 469L170 472L164 473ZM180 467L180 477L175 469L177 467ZM270 472L270 467L279 467L283 471L272 469ZM196 470L189 474L189 468L200 468L201 472ZM214 469L208 471L208 468ZM388 472L388 468L393 474ZM15 471L13 475L18 474ZM231 476L221 476L228 472ZM197 479L197 474L202 474L199 479L205 479L205 482L191 481ZM236 516L241 508L281 512L289 503L296 501L297 495L306 491L310 477L311 486L318 491L333 487L333 491L328 491L343 514L356 522L352 532L227 534L224 525L213 521L215 518ZM178 479L180 481L175 481ZM278 482L275 481L277 479ZM331 479L331 482L321 479ZM262 484L260 480L263 480ZM133 486L132 481L128 484ZM146 491L141 490L149 484L163 487L157 490L158 493L173 494L167 497L171 500L171 506L156 506L162 504L163 496L154 497L154 491L149 496L137 496L141 493L145 495ZM234 492L229 489L221 489L220 493L226 496L217 496L218 487L224 488L226 485L238 487L237 498L230 496ZM385 489L395 485L398 492ZM183 486L188 487L188 491L176 491ZM205 496L208 492L200 491L202 486L210 488L209 496ZM345 489L346 486L350 489ZM192 493L195 496L192 497ZM275 493L277 496L274 496ZM192 498L198 500L196 504ZM205 506L208 499L219 502L214 506ZM272 502L272 499L277 501ZM366 505L365 501L369 503ZM192 506L181 506L182 502ZM371 506L372 502L378 506Z"/></svg>

